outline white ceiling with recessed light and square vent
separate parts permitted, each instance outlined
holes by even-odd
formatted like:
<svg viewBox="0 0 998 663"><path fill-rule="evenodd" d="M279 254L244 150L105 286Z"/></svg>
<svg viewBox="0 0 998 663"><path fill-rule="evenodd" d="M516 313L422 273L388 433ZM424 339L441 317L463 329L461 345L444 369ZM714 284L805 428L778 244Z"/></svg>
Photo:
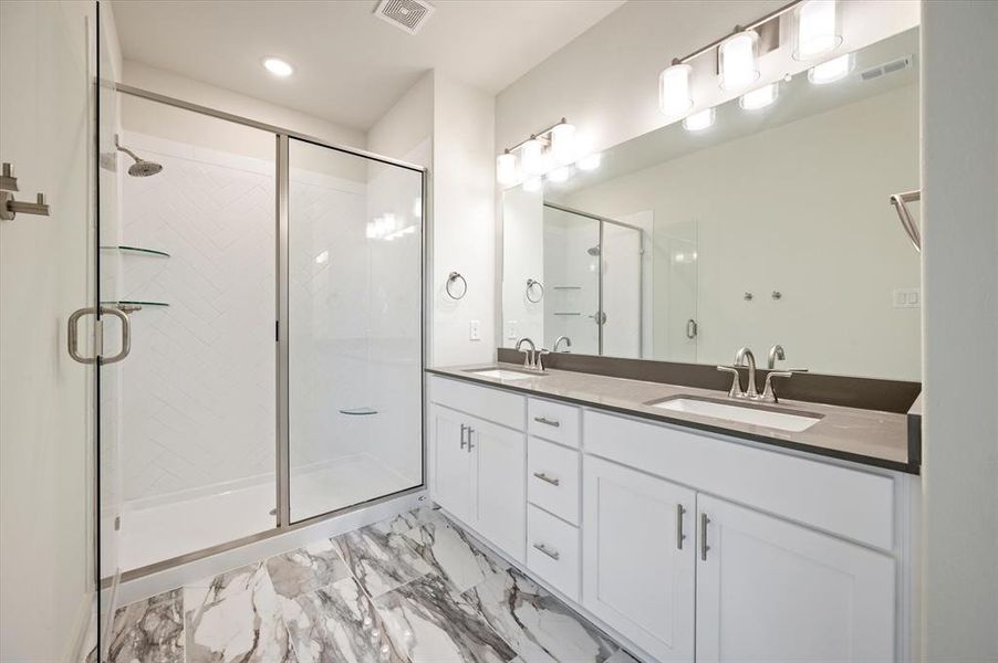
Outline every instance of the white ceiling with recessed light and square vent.
<svg viewBox="0 0 998 663"><path fill-rule="evenodd" d="M366 130L428 70L497 93L624 0L436 0L410 35L376 0L115 0L125 60ZM295 74L276 78L274 55Z"/></svg>

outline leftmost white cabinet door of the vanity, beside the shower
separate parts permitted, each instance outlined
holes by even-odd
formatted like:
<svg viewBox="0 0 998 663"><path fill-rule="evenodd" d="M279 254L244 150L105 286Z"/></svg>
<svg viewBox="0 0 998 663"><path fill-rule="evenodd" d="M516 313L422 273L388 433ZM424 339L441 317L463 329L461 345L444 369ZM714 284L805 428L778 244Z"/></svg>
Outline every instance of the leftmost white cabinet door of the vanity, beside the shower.
<svg viewBox="0 0 998 663"><path fill-rule="evenodd" d="M475 524L475 477L465 414L434 407L434 501L469 525Z"/></svg>

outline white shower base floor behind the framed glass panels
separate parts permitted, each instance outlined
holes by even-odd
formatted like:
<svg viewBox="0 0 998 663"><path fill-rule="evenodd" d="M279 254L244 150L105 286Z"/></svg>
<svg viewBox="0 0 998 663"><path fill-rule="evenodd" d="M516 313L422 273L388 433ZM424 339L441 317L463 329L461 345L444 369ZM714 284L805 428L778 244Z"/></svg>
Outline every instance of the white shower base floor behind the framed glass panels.
<svg viewBox="0 0 998 663"><path fill-rule="evenodd" d="M367 454L336 459L291 473L291 519L331 511L414 487ZM209 492L210 491L210 492ZM188 552L273 528L277 488L272 475L202 488L170 497L125 503L119 566L142 568Z"/></svg>

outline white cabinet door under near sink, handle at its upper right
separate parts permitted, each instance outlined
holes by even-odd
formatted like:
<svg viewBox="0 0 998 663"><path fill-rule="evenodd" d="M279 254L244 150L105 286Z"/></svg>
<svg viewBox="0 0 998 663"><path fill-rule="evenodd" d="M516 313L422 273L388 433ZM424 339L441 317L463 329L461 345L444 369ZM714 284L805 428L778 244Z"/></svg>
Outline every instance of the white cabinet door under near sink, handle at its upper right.
<svg viewBox="0 0 998 663"><path fill-rule="evenodd" d="M594 456L583 475L583 604L656 660L693 661L696 493Z"/></svg>

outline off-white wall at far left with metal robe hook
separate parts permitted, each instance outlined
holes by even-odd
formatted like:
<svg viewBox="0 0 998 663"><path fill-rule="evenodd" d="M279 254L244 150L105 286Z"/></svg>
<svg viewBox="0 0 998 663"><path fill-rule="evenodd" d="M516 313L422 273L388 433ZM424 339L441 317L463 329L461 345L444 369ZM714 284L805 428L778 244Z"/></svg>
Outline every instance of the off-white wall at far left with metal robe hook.
<svg viewBox="0 0 998 663"><path fill-rule="evenodd" d="M93 298L94 19L90 2L0 3L0 151L17 198L51 206L0 221L2 661L79 661L93 599L93 372L65 325Z"/></svg>

